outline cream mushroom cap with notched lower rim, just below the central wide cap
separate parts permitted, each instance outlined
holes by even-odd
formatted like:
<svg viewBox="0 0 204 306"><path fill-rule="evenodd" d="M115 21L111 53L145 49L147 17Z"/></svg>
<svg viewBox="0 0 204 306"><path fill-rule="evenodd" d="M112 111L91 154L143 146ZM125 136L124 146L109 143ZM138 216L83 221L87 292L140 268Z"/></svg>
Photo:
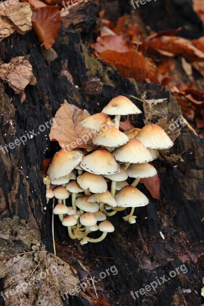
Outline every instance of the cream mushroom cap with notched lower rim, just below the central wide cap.
<svg viewBox="0 0 204 306"><path fill-rule="evenodd" d="M106 180L102 175L84 172L77 177L77 182L84 190L88 189L92 193L105 192L108 189Z"/></svg>

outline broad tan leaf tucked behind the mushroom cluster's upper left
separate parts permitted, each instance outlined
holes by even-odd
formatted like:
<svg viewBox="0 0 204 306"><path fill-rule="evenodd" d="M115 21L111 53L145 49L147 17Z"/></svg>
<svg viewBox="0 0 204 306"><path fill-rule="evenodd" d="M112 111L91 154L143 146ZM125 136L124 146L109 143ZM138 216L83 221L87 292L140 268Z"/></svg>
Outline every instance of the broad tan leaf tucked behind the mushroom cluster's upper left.
<svg viewBox="0 0 204 306"><path fill-rule="evenodd" d="M55 115L57 126L51 127L49 139L58 141L61 147L67 147L70 150L93 148L91 144L94 132L80 125L80 122L89 116L86 110L83 111L75 105L68 104L65 100Z"/></svg>

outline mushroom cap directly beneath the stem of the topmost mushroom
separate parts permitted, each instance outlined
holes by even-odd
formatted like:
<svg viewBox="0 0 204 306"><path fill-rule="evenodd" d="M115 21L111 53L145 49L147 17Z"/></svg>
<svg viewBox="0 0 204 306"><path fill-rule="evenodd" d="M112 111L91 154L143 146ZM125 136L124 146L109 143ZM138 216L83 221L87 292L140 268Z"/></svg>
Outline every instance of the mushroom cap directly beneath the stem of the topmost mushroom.
<svg viewBox="0 0 204 306"><path fill-rule="evenodd" d="M95 145L114 148L119 147L128 141L129 138L113 125L104 125L102 130L92 140Z"/></svg>

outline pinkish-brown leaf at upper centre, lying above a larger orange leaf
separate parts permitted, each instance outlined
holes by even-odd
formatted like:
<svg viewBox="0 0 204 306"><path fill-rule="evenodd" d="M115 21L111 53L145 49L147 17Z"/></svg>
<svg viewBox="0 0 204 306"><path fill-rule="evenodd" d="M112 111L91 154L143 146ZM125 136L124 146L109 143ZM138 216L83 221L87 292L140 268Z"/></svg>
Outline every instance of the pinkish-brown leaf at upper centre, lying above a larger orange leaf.
<svg viewBox="0 0 204 306"><path fill-rule="evenodd" d="M135 46L130 41L124 40L123 37L119 35L98 36L96 43L94 43L92 47L97 53L106 50L114 50L121 53L135 49Z"/></svg>

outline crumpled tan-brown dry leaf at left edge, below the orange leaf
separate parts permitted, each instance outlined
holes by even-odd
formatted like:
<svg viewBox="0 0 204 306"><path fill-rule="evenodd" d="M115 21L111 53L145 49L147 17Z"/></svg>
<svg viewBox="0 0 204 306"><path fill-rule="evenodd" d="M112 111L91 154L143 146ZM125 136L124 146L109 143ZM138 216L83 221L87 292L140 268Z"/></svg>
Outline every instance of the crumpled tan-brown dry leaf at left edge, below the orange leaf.
<svg viewBox="0 0 204 306"><path fill-rule="evenodd" d="M29 84L36 84L32 66L24 56L13 58L9 64L0 65L0 78L4 83L8 83L15 93L20 93Z"/></svg>

